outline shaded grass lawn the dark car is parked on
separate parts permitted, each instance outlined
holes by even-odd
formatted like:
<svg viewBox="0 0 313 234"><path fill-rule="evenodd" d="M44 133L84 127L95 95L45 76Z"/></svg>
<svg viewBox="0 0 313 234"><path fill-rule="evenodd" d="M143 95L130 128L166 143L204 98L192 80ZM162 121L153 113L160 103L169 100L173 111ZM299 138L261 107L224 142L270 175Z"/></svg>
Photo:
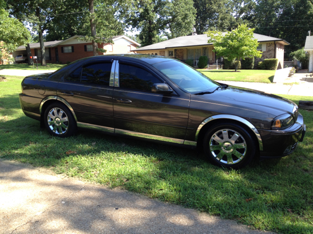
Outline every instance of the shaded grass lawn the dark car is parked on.
<svg viewBox="0 0 313 234"><path fill-rule="evenodd" d="M0 82L0 158L122 187L261 230L313 234L313 111L300 110L307 133L290 156L226 170L208 163L202 153L173 146L83 131L51 137L22 113L21 81L7 76ZM296 103L313 100L283 97Z"/></svg>

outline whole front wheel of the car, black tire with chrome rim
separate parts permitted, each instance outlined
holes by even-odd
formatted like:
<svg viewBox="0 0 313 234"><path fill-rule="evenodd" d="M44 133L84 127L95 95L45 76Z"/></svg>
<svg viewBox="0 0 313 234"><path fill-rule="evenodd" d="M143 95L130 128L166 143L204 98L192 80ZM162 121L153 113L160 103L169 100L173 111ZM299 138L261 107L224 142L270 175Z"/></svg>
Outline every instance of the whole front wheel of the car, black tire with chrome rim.
<svg viewBox="0 0 313 234"><path fill-rule="evenodd" d="M203 148L212 164L239 169L251 162L256 154L257 144L245 128L225 122L207 130Z"/></svg>

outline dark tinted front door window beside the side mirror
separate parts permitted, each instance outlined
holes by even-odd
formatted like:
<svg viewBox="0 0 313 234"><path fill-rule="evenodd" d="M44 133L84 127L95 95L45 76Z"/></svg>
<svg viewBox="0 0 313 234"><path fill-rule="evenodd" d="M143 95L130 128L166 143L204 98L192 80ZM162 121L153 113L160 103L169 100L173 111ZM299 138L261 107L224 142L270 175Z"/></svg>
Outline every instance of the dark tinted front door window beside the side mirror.
<svg viewBox="0 0 313 234"><path fill-rule="evenodd" d="M119 64L119 86L126 89L135 89L151 92L152 85L162 83L151 73L132 65Z"/></svg>

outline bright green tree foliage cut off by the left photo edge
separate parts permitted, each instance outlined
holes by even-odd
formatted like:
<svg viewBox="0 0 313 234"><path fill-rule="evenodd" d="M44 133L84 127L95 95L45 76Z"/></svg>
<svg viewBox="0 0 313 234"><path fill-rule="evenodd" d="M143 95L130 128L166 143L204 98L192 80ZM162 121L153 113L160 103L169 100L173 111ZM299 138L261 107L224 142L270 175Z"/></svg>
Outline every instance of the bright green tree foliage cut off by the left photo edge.
<svg viewBox="0 0 313 234"><path fill-rule="evenodd" d="M0 6L4 6L0 2ZM7 59L8 54L30 39L27 28L17 19L9 17L9 13L0 9L0 59Z"/></svg>

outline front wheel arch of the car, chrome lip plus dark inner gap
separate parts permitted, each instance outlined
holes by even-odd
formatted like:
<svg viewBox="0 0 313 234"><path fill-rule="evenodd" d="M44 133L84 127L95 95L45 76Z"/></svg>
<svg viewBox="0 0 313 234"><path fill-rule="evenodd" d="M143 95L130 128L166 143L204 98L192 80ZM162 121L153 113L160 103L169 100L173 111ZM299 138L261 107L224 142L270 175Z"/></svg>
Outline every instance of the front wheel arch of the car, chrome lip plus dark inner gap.
<svg viewBox="0 0 313 234"><path fill-rule="evenodd" d="M233 116L233 115L216 115L216 116L211 116L211 117L204 119L199 125L197 132L196 132L195 141L197 142L197 145L202 144L203 137L208 128L210 128L216 123L220 123L224 121L233 122L233 123L246 127L250 133L253 133L252 136L254 136L255 140L259 143L260 151L263 151L262 138L261 138L259 131L256 129L256 127L254 127L254 125L250 123L248 120L242 117Z"/></svg>

